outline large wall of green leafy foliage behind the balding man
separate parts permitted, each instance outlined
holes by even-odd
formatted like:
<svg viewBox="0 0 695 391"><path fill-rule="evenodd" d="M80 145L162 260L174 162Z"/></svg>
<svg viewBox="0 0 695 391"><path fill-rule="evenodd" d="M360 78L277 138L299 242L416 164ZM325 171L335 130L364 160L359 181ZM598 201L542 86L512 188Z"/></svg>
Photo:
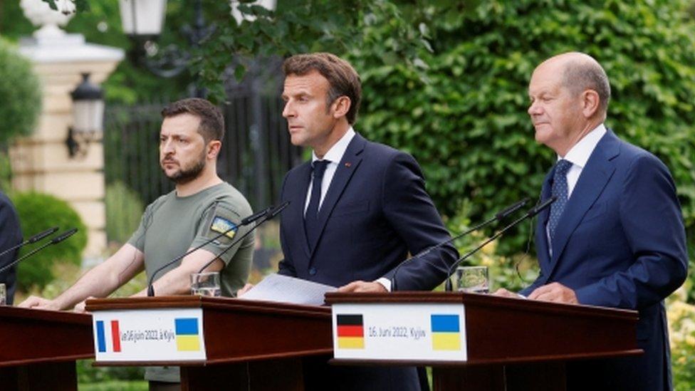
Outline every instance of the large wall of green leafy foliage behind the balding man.
<svg viewBox="0 0 695 391"><path fill-rule="evenodd" d="M607 125L658 155L674 174L686 225L695 235L695 25L686 1L480 1L404 6L432 53L423 71L384 65L397 27L375 21L349 58L362 75L357 130L411 152L442 214L471 221L540 192L553 152L533 140L528 80L543 59L584 51L612 85ZM543 10L540 11L539 10ZM528 226L498 251L524 247Z"/></svg>

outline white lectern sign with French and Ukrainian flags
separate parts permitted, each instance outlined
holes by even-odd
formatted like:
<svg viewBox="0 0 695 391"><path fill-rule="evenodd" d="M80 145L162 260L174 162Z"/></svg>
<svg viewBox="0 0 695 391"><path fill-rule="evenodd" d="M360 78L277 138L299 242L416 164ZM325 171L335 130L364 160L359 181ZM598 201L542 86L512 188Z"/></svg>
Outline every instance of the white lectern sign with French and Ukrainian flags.
<svg viewBox="0 0 695 391"><path fill-rule="evenodd" d="M201 308L96 311L97 361L205 360Z"/></svg>

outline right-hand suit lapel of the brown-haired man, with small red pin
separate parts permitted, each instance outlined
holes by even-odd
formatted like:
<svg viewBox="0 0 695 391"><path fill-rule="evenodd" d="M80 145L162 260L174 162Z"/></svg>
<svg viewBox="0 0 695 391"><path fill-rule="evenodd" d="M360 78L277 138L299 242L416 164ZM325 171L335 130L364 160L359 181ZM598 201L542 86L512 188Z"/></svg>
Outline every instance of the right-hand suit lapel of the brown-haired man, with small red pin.
<svg viewBox="0 0 695 391"><path fill-rule="evenodd" d="M367 140L365 140L364 137L355 134L355 137L352 137L352 140L350 140L348 149L345 150L345 154L343 154L343 159L338 162L338 168L335 169L335 174L330 181L328 192L326 192L321 208L318 211L318 226L320 231L318 236L316 236L316 243L310 246L314 251L316 249L316 244L321 240L323 229L325 229L325 224L331 212L333 212L335 204L338 203L338 199L343 195L343 191L348 185L348 182L350 182L352 174L357 171L357 167L360 165L360 162L362 162L362 157L360 155L362 150L365 149L366 144Z"/></svg>

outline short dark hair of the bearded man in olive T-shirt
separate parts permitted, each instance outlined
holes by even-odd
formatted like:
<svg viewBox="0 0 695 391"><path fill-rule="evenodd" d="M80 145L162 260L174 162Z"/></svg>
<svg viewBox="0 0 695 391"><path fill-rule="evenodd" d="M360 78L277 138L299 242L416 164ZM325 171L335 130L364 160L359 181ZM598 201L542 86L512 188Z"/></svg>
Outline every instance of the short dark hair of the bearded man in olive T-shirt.
<svg viewBox="0 0 695 391"><path fill-rule="evenodd" d="M205 142L222 140L224 138L224 117L216 105L201 98L186 98L177 100L162 109L162 118L175 117L181 114L191 114L200 118L198 132Z"/></svg>

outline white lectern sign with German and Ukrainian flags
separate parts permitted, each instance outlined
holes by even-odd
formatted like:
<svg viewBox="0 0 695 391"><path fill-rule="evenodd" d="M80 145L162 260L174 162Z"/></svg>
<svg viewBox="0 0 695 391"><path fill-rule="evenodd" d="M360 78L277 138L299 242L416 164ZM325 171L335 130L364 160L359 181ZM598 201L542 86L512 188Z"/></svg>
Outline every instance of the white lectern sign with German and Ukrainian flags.
<svg viewBox="0 0 695 391"><path fill-rule="evenodd" d="M335 358L466 361L464 306L334 303Z"/></svg>

